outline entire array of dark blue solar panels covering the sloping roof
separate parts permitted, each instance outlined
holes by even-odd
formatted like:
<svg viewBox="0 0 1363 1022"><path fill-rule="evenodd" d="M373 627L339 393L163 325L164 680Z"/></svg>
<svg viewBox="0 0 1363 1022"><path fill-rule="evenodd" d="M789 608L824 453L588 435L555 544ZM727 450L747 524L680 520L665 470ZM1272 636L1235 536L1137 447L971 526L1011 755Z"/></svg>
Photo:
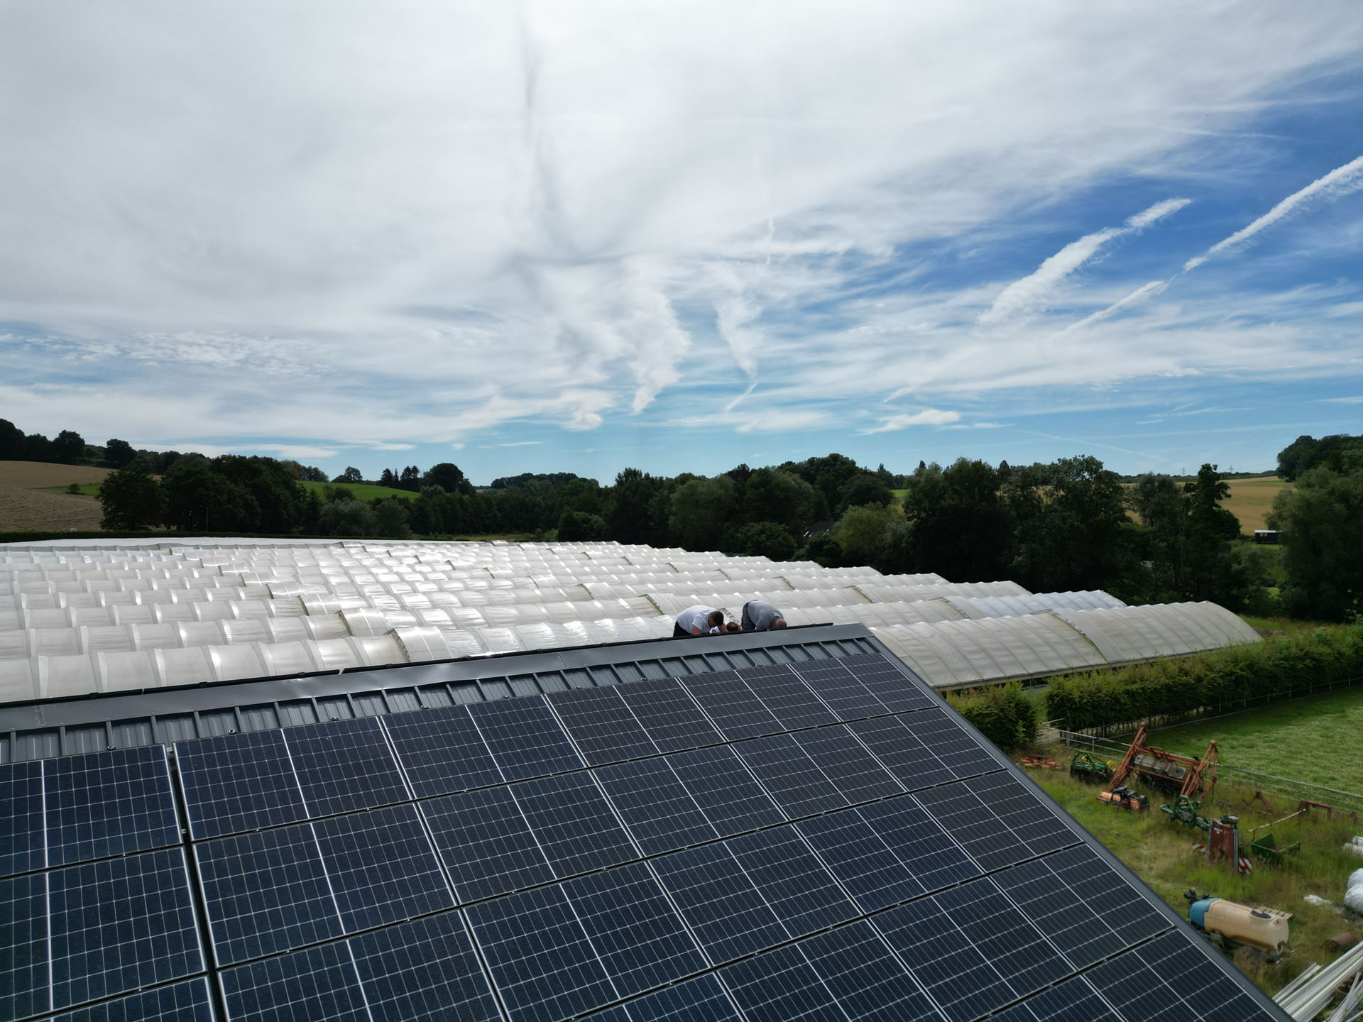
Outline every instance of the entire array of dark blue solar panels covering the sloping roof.
<svg viewBox="0 0 1363 1022"><path fill-rule="evenodd" d="M173 767L0 767L0 1018L1280 1018L878 654L195 739Z"/></svg>

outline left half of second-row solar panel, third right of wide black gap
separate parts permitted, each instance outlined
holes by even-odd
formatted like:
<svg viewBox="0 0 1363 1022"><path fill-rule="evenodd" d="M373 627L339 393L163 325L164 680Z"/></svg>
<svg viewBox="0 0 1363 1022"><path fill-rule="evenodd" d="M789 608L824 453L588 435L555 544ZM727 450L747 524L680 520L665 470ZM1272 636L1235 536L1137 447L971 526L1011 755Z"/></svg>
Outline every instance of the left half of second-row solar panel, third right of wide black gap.
<svg viewBox="0 0 1363 1022"><path fill-rule="evenodd" d="M596 771L612 805L645 854L711 841L720 833L672 770L672 758L616 763Z"/></svg>

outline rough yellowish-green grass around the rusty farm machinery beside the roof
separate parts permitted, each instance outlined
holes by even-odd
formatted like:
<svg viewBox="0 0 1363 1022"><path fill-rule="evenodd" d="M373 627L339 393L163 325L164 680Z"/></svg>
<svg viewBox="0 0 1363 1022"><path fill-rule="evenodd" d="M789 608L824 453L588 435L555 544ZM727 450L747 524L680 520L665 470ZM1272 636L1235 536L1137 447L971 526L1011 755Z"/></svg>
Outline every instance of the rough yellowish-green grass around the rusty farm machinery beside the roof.
<svg viewBox="0 0 1363 1022"><path fill-rule="evenodd" d="M1051 752L1056 762L1069 763L1066 749ZM1202 831L1174 823L1160 812L1159 807L1168 800L1167 796L1149 792L1150 811L1137 816L1100 803L1094 797L1097 788L1075 781L1067 773L1028 770L1028 774L1183 918L1187 918L1183 893L1189 888L1243 905L1291 912L1291 940L1296 953L1272 966L1253 953L1235 955L1235 963L1262 989L1274 993L1311 962L1326 965L1334 959L1322 942L1351 927L1330 908L1311 905L1303 897L1315 894L1332 902L1343 897L1349 872L1363 864L1363 860L1340 848L1356 824L1338 816L1329 820L1317 815L1300 824L1280 826L1273 831L1276 842L1285 846L1300 839L1302 850L1277 868L1257 861L1253 873L1240 876L1209 865L1193 850L1193 845L1201 842ZM1247 831L1270 818L1255 815L1239 804L1240 794L1232 793L1224 800L1219 796L1217 804L1205 808L1204 815L1236 814L1242 842L1247 845Z"/></svg>

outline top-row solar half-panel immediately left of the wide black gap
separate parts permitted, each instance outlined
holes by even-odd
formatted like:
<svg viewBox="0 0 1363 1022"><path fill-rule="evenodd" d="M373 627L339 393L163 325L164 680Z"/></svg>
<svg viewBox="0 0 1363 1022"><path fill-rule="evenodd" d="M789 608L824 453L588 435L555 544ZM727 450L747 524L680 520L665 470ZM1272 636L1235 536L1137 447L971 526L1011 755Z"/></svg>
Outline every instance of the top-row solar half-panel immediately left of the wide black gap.
<svg viewBox="0 0 1363 1022"><path fill-rule="evenodd" d="M180 843L164 745L42 763L48 865Z"/></svg>

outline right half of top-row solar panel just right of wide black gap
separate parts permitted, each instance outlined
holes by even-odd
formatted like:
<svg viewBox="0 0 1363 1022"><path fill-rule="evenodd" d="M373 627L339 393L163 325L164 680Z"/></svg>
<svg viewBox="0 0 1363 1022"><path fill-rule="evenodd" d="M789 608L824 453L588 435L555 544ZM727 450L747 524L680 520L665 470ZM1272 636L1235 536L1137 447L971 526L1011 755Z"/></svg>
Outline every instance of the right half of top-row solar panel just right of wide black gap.
<svg viewBox="0 0 1363 1022"><path fill-rule="evenodd" d="M309 816L388 805L408 797L373 717L289 728L284 740Z"/></svg>

